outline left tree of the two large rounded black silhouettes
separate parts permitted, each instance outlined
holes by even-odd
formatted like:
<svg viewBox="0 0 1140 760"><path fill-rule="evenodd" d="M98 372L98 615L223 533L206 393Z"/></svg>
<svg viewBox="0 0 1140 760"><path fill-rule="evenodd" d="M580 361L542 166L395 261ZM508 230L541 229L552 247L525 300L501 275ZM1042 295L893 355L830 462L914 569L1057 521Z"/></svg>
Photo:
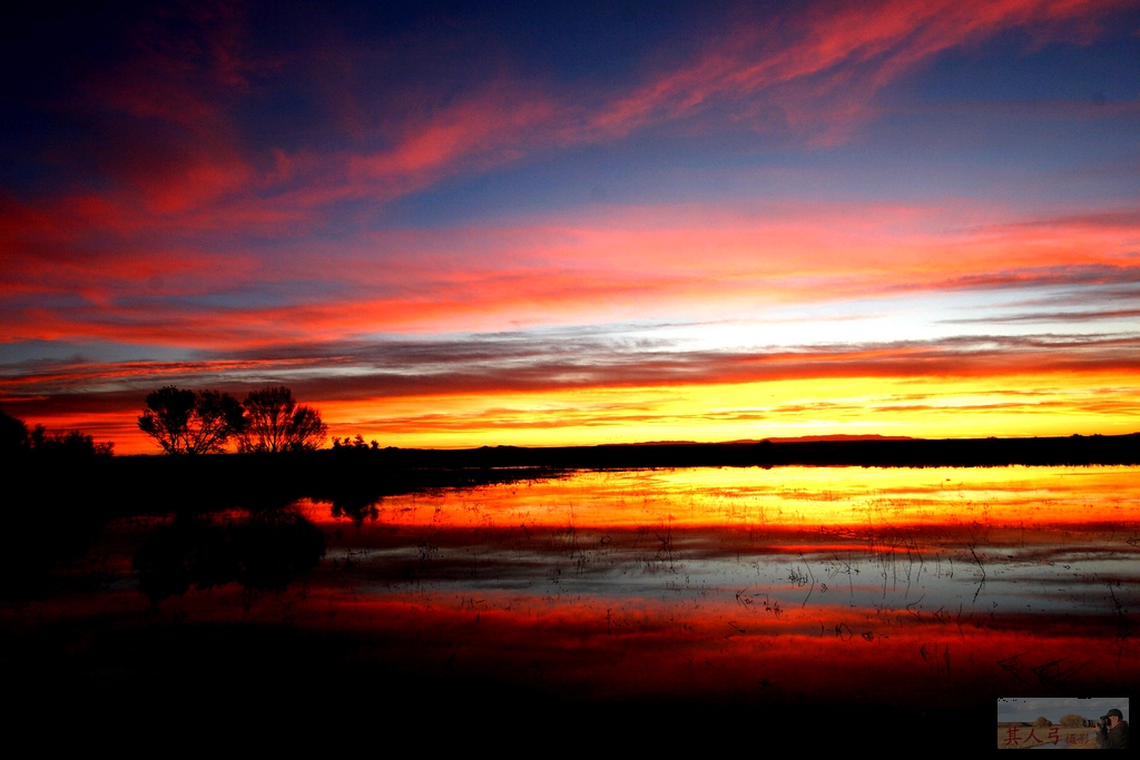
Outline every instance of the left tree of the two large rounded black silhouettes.
<svg viewBox="0 0 1140 760"><path fill-rule="evenodd" d="M229 393L195 393L168 385L147 395L139 430L166 453L213 453L242 433L244 415L242 403Z"/></svg>

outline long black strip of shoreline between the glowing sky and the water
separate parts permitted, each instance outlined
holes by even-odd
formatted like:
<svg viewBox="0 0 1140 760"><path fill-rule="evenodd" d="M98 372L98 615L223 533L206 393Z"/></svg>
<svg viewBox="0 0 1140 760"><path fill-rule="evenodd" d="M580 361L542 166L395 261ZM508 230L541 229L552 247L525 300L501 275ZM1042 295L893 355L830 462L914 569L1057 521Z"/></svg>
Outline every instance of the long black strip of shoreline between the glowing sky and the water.
<svg viewBox="0 0 1140 760"><path fill-rule="evenodd" d="M301 498L347 513L434 489L557 477L578 469L674 467L1003 467L1140 465L1140 434L1032 439L907 439L397 449L298 453L136 455L14 461L49 509L100 514L259 509ZM82 505L82 506L80 506Z"/></svg>

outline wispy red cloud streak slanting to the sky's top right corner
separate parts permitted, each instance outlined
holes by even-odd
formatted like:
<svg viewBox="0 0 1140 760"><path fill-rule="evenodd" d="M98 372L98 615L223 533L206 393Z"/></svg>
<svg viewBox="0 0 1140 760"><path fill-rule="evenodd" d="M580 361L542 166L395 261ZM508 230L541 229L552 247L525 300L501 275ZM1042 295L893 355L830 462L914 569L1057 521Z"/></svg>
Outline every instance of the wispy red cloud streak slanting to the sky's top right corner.
<svg viewBox="0 0 1140 760"><path fill-rule="evenodd" d="M694 60L650 77L589 117L601 134L724 107L759 124L781 115L817 139L838 140L872 111L872 96L951 48L1010 28L1040 40L1086 41L1127 7L1051 0L880 0L817 3L710 40Z"/></svg>

